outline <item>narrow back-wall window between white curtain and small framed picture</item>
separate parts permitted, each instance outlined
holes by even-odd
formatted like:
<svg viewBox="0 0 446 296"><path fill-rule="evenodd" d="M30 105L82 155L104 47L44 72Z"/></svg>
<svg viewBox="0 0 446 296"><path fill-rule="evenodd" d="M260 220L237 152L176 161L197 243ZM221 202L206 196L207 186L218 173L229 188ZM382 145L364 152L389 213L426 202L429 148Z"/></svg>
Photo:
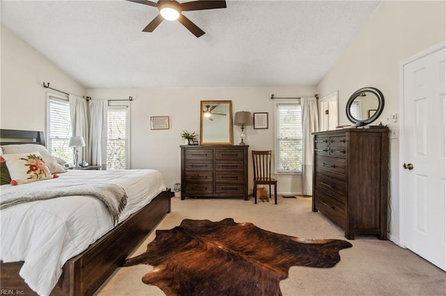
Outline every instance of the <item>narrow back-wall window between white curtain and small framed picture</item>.
<svg viewBox="0 0 446 296"><path fill-rule="evenodd" d="M107 118L107 170L130 167L130 105L109 102Z"/></svg>

